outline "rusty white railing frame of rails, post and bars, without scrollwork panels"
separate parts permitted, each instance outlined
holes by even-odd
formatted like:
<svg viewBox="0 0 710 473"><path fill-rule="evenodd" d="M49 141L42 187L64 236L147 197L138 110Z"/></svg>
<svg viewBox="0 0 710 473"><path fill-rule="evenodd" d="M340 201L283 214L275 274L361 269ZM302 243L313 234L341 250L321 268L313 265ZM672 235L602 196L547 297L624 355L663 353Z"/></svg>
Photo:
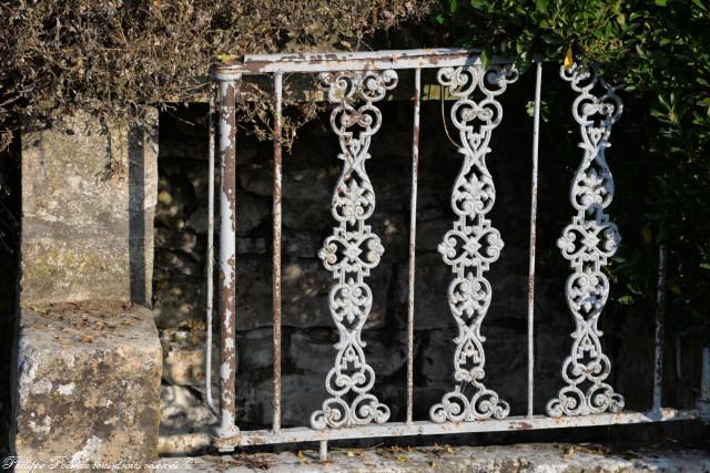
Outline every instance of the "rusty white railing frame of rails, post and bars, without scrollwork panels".
<svg viewBox="0 0 710 473"><path fill-rule="evenodd" d="M510 65L511 61L495 58L490 65ZM649 412L618 412L595 415L559 417L536 415L532 409L534 393L534 290L535 245L537 215L537 168L539 146L539 109L541 90L541 63L536 64L535 116L532 133L532 177L530 206L530 256L528 273L528 379L527 414L505 419L474 420L467 422L433 422L413 419L414 391L414 292L416 256L416 205L418 185L419 101L422 96L422 70L443 68L481 68L479 51L463 49L426 49L408 51L376 51L358 53L304 53L256 54L241 60L221 60L212 65L212 78L219 96L219 157L221 163L220 188L220 425L215 431L214 445L220 451L233 451L237 446L320 442L321 457L327 455L327 442L342 439L385 438L409 435L436 435L449 433L518 431L612 424L631 424L662 421L708 419L710 417L710 349L703 351L703 380L698 409L674 410L661 407L662 373L660 361L662 347L656 349L657 371L653 382L653 408ZM328 429L290 428L281 425L281 225L282 225L282 102L285 73L346 72L357 74L385 70L414 71L414 110L412 137L412 197L408 251L408 301L407 301L407 385L405 422L371 423ZM498 68L499 69L499 68ZM236 146L235 146L235 95L242 75L272 74L274 81L274 200L273 200L273 350L274 350L274 420L271 430L240 431L235 423L235 295L236 295ZM211 133L212 140L212 133ZM214 152L213 141L210 150ZM213 156L211 156L213 157ZM211 168L213 166L211 160ZM209 249L211 251L211 248ZM209 258L211 260L211 257ZM211 273L211 271L209 271ZM211 276L209 276L211 277ZM210 296L209 296L210 297ZM211 320L211 304L209 304ZM658 337L662 343L662 312L659 313ZM657 343L658 345L658 343ZM210 350L211 346L207 347ZM210 357L210 354L207 354ZM210 387L207 385L207 389Z"/></svg>

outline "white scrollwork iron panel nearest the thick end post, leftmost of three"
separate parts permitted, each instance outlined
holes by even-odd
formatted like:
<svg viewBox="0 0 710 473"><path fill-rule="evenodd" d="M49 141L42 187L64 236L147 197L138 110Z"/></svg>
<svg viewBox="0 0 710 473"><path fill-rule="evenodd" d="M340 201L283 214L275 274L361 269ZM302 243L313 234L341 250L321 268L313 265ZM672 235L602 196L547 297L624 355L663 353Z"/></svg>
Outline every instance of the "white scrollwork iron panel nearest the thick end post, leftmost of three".
<svg viewBox="0 0 710 473"><path fill-rule="evenodd" d="M389 408L369 392L375 384L375 371L365 360L365 342L361 338L373 304L365 278L384 253L379 237L366 224L375 210L375 192L365 161L371 157L371 138L382 124L382 113L374 103L395 88L397 73L323 72L318 78L328 101L337 104L331 113L331 126L338 136L338 158L343 160L332 200L337 226L318 253L335 280L328 298L339 340L335 345L335 366L325 380L331 398L311 415L311 426L384 423L389 419Z"/></svg>

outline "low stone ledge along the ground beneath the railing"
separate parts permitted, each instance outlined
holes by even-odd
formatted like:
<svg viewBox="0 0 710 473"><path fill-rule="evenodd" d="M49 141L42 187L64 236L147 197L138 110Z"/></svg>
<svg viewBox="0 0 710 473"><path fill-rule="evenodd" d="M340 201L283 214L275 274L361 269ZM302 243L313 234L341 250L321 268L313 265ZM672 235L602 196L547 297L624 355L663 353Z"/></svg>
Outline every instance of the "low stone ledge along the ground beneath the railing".
<svg viewBox="0 0 710 473"><path fill-rule="evenodd" d="M708 472L710 452L700 450L625 450L571 444L519 444L417 449L335 450L321 463L317 452L301 454L161 459L162 467L185 471L270 472Z"/></svg>

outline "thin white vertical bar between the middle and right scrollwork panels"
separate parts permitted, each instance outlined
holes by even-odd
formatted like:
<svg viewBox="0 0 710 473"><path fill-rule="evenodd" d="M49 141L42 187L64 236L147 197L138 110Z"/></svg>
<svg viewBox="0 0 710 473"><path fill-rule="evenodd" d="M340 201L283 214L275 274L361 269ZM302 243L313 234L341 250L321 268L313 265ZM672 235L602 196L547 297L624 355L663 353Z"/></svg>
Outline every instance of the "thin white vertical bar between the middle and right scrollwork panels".
<svg viewBox="0 0 710 473"><path fill-rule="evenodd" d="M532 417L535 372L535 245L537 237L537 174L540 143L540 90L542 62L536 63L535 115L532 117L532 185L530 189L530 258L528 265L528 417Z"/></svg>

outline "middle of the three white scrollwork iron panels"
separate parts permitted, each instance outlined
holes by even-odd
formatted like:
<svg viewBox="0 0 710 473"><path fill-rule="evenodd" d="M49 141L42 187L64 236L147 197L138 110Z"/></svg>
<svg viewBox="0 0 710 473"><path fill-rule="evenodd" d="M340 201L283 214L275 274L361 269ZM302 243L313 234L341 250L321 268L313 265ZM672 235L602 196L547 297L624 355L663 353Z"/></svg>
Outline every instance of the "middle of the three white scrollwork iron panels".
<svg viewBox="0 0 710 473"><path fill-rule="evenodd" d="M504 419L510 412L508 403L483 382L486 357L480 326L493 296L484 274L504 246L500 234L486 216L496 199L486 154L490 151L493 130L503 119L503 107L496 97L517 80L518 73L509 65L489 69L474 65L443 68L437 78L456 97L450 117L459 132L458 152L464 155L464 163L452 192L454 228L438 247L455 275L448 287L448 302L458 326L454 339L454 379L458 384L430 408L429 417L435 422ZM474 100L474 94L480 100Z"/></svg>

